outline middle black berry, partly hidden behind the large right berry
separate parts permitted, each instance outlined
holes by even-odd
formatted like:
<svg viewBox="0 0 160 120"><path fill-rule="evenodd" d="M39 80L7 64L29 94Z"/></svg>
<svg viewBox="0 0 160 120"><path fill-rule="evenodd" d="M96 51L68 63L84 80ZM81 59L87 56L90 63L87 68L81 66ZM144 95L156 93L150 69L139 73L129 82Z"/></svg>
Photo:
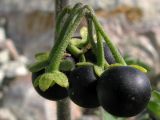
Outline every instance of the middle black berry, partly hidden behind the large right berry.
<svg viewBox="0 0 160 120"><path fill-rule="evenodd" d="M85 108L99 106L97 99L97 78L93 66L81 66L73 70L69 77L68 93L71 100Z"/></svg>

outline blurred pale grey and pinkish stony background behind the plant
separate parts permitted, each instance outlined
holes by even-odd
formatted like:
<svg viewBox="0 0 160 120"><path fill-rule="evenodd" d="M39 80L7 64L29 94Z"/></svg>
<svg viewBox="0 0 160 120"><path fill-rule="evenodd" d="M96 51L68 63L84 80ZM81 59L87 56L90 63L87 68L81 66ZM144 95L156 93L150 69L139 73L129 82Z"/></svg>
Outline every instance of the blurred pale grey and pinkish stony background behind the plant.
<svg viewBox="0 0 160 120"><path fill-rule="evenodd" d="M147 65L152 85L160 90L160 0L70 0L69 4L76 2L95 9L125 59ZM0 0L0 120L56 120L55 102L35 92L26 68L35 53L52 47L54 4L54 0ZM99 120L96 113L87 117L82 108L71 106L72 120ZM151 120L148 116L154 115L128 119ZM106 118L112 119L118 118Z"/></svg>

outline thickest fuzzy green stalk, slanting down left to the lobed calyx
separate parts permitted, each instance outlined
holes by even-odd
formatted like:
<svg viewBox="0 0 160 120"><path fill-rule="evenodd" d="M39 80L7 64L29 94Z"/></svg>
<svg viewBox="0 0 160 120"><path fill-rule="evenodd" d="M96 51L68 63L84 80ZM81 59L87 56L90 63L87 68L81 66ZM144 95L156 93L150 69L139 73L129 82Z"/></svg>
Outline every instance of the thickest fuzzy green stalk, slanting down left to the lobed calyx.
<svg viewBox="0 0 160 120"><path fill-rule="evenodd" d="M76 28L78 27L78 25L79 25L80 21L82 20L83 16L85 15L85 13L86 13L86 10L83 8L78 10L78 16L76 17L76 19L75 20L72 19L69 22L68 29L66 30L66 34L64 35L62 40L59 39L59 40L61 40L60 44L58 46L56 46L57 49L55 49L55 51L53 51L53 53L51 53L52 57L50 59L50 65L46 69L47 72L53 72L53 71L59 70L60 60L63 57L63 53L64 53L65 49L67 48L69 40L71 39L73 33L76 31ZM63 30L62 30L62 32L63 32ZM60 38L61 38L61 36L60 36Z"/></svg>

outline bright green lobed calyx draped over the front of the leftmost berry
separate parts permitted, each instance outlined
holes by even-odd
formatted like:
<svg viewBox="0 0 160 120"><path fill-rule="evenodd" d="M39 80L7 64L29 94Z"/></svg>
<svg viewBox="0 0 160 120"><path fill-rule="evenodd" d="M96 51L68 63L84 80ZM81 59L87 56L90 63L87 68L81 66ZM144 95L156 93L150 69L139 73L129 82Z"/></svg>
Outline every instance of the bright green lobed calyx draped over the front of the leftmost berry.
<svg viewBox="0 0 160 120"><path fill-rule="evenodd" d="M39 81L39 88L42 91L46 91L49 87L53 86L55 83L61 87L68 87L69 82L67 76L59 71L54 71L52 73L45 73L37 78Z"/></svg>

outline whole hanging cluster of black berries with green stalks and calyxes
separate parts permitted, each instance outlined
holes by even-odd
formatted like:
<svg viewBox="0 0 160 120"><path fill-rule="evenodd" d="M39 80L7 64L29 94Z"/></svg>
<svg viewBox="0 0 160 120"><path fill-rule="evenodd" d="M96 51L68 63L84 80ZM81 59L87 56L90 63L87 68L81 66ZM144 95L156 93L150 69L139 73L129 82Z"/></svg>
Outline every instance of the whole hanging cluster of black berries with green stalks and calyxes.
<svg viewBox="0 0 160 120"><path fill-rule="evenodd" d="M88 26L73 37L83 17ZM57 18L56 32L52 50L36 54L36 63L29 67L41 96L49 100L69 96L81 107L102 106L120 117L144 110L151 96L146 69L126 64L89 6L65 8Z"/></svg>

